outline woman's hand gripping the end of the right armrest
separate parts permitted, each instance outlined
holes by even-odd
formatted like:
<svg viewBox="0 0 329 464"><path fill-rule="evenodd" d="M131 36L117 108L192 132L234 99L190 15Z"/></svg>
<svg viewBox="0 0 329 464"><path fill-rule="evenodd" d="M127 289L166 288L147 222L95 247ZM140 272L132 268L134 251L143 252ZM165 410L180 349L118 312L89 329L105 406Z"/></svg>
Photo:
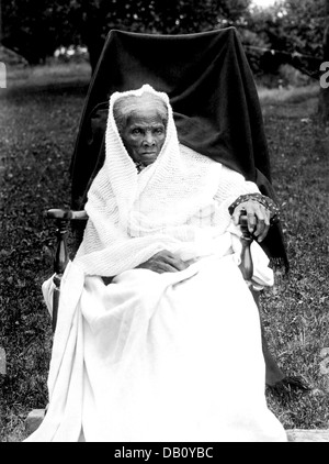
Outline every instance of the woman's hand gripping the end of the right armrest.
<svg viewBox="0 0 329 464"><path fill-rule="evenodd" d="M247 213L249 232L257 237L258 242L262 242L270 229L270 210L258 201L243 201L235 208L231 216L236 225L239 223L242 211Z"/></svg>

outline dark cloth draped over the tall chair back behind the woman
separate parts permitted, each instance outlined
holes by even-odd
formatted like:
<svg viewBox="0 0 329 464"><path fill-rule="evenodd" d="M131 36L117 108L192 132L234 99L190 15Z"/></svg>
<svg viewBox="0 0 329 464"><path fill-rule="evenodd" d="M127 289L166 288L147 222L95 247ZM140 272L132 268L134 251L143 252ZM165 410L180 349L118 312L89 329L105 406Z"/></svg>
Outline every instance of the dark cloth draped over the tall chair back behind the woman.
<svg viewBox="0 0 329 464"><path fill-rule="evenodd" d="M155 35L112 30L87 95L70 166L71 207L83 209L103 164L109 99L149 84L170 98L179 140L239 172L275 201L262 112L235 27ZM262 247L287 266L280 224Z"/></svg>

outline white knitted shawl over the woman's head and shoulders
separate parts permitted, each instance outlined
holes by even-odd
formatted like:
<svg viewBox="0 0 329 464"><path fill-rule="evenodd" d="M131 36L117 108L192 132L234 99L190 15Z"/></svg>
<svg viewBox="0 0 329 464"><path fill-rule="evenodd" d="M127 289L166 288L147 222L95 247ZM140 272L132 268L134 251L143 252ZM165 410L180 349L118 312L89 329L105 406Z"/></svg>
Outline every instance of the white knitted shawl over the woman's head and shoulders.
<svg viewBox="0 0 329 464"><path fill-rule="evenodd" d="M117 99L151 92L168 108L162 150L155 163L137 173L113 115ZM105 161L86 203L89 221L75 262L86 274L114 276L144 263L160 250L192 258L229 225L229 202L258 191L239 174L180 145L166 93L149 85L115 92L110 99Z"/></svg>

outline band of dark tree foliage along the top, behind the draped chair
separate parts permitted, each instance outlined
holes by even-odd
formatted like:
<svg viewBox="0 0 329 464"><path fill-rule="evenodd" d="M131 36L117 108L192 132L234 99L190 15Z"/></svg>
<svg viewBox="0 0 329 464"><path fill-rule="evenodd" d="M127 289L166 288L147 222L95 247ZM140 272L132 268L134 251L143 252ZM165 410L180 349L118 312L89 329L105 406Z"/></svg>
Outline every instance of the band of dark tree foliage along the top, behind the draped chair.
<svg viewBox="0 0 329 464"><path fill-rule="evenodd" d="M60 46L86 45L94 68L111 29L180 34L234 25L241 34L254 73L277 74L281 65L290 64L318 78L324 0L279 0L265 10L252 9L250 3L250 0L7 0L2 5L2 43L31 64L45 62Z"/></svg>

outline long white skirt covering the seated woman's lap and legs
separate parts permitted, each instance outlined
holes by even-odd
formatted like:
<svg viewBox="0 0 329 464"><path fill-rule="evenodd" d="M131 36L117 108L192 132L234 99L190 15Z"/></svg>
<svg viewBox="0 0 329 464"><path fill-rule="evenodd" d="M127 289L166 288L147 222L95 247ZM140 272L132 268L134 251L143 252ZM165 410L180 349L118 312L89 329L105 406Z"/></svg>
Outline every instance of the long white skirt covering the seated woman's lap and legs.
<svg viewBox="0 0 329 464"><path fill-rule="evenodd" d="M258 308L232 256L127 270L109 286L86 277L77 303L73 281L48 412L27 441L286 441L266 406Z"/></svg>

